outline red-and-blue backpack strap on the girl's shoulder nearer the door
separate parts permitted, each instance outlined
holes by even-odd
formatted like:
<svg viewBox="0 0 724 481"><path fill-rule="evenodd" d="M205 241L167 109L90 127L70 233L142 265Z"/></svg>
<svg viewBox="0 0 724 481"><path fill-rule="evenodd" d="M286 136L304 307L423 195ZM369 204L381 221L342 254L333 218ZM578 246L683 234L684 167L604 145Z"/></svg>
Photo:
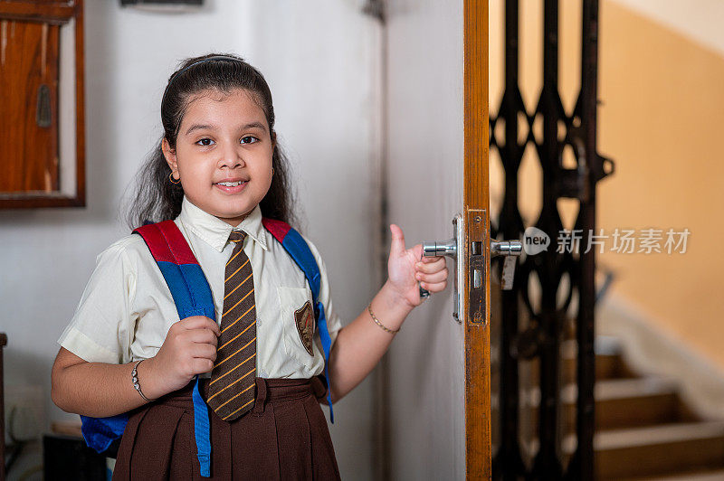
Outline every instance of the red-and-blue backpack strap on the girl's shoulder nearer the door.
<svg viewBox="0 0 724 481"><path fill-rule="evenodd" d="M317 260L311 253L310 246L288 223L276 219L263 218L262 223L267 231L271 232L274 239L281 243L291 259L304 272L304 276L310 283L312 302L314 303L314 315L317 317L317 328L319 339L322 342L324 351L324 377L327 380L327 402L329 404L329 420L334 424L334 410L332 410L331 384L329 384L329 351L332 347L332 339L327 326L327 316L324 315L324 306L319 302L319 288L321 286L321 273Z"/></svg>

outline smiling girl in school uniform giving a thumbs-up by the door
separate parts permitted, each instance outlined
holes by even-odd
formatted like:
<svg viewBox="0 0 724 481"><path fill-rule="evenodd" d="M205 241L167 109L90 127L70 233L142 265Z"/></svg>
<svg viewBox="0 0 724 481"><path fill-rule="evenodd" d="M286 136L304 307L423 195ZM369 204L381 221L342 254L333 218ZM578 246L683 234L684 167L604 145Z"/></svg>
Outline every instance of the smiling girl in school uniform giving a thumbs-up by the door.
<svg viewBox="0 0 724 481"><path fill-rule="evenodd" d="M308 328L310 287L262 225L262 217L293 222L269 87L238 57L188 59L168 81L161 119L163 138L139 173L133 223L174 220L208 281L216 318L179 320L146 243L126 236L98 257L59 339L52 400L95 418L129 412L114 479L195 479L191 392L200 375L213 479L338 478L319 407L325 360L319 332ZM344 327L319 251L303 238L320 270L332 401L385 354L421 304L419 287L445 288L444 259L423 258L420 244L406 250L400 228L390 231L387 281Z"/></svg>

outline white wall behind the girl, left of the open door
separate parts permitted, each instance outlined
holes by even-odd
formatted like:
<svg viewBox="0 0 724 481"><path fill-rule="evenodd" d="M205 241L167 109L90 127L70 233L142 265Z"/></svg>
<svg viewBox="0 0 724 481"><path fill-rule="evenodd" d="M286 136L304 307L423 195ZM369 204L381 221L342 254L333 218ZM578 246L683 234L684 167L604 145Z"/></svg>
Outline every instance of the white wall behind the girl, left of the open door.
<svg viewBox="0 0 724 481"><path fill-rule="evenodd" d="M376 229L379 152L372 121L379 25L360 13L363 3L208 0L194 13L158 14L86 2L88 206L0 212L9 402L36 389L43 426L72 418L50 400L56 339L96 255L128 232L121 196L161 134L160 97L187 56L235 52L265 75L291 158L300 228L325 258L339 313L350 321L362 311L376 290L364 259L374 248L366 240ZM346 479L371 477L369 384L335 406L331 431Z"/></svg>

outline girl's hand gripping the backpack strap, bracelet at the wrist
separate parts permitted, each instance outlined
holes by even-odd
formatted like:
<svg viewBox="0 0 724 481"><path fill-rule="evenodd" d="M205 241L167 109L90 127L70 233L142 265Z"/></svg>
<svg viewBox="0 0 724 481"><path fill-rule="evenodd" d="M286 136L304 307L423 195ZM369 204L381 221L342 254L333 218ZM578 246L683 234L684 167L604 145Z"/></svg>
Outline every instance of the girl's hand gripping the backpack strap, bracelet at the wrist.
<svg viewBox="0 0 724 481"><path fill-rule="evenodd" d="M151 366L147 369L147 379L138 373L141 389L144 393L148 390L147 397L153 399L176 391L196 374L210 372L214 368L220 334L219 326L206 316L186 317L171 325L164 344L148 360ZM139 364L139 370L143 364Z"/></svg>

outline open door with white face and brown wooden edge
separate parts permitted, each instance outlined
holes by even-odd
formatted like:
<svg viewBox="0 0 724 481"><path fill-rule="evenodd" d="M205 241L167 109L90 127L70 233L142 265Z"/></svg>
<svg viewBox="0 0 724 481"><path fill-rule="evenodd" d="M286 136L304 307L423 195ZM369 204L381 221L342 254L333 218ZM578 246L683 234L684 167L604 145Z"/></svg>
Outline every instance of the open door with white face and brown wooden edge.
<svg viewBox="0 0 724 481"><path fill-rule="evenodd" d="M461 322L452 317L449 260L450 288L415 309L390 351L385 477L487 479L488 4L390 0L386 8L387 220L403 227L410 246L452 238L452 218L461 214L464 275ZM471 292L473 242L483 282Z"/></svg>

